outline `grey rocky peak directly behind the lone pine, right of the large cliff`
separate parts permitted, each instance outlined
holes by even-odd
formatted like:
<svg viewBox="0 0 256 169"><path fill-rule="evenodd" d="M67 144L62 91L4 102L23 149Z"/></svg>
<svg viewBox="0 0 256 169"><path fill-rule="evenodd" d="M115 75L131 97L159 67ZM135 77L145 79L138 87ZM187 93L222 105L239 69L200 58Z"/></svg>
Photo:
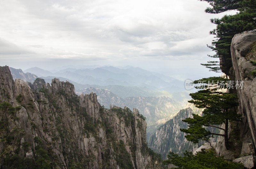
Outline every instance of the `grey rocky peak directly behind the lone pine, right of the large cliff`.
<svg viewBox="0 0 256 169"><path fill-rule="evenodd" d="M183 122L183 119L192 118L192 114L202 114L203 109L195 107L193 104L188 103L179 113L172 117L169 121L162 124L154 134L148 140L148 147L151 148L156 153L162 155L163 159L166 159L169 151L183 155L185 150L195 151L204 142L200 141L195 144L188 141L185 138L186 133L181 132L180 129L187 129L188 123ZM154 126L154 125L153 125ZM218 133L218 130L211 129ZM148 132L148 131L147 131ZM212 142L216 141L217 137L211 139Z"/></svg>

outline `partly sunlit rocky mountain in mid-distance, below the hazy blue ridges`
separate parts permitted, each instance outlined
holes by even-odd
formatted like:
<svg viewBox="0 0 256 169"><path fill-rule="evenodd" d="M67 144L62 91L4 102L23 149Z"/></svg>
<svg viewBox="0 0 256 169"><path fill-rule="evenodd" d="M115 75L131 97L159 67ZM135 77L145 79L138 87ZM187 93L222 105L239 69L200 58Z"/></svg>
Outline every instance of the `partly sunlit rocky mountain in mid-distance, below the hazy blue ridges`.
<svg viewBox="0 0 256 169"><path fill-rule="evenodd" d="M177 113L182 108L179 103L166 96L121 98L109 90L92 87L85 89L83 92L77 92L77 94L90 94L91 92L97 94L99 103L106 108L109 108L110 104L118 107L127 106L130 109L137 108L147 118L148 126L160 119Z"/></svg>

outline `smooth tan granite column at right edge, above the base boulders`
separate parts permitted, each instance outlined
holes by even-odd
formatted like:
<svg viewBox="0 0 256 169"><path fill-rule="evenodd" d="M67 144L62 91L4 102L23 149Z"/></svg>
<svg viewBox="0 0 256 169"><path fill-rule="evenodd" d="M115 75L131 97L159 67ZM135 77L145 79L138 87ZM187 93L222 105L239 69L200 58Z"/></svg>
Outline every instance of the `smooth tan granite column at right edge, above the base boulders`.
<svg viewBox="0 0 256 169"><path fill-rule="evenodd" d="M256 145L256 78L251 75L251 71L255 70L256 66L245 59L254 41L256 41L255 33L244 32L236 34L231 44L233 71L230 72L233 73L235 81L244 82L243 88L236 90L240 103L238 111L243 114L241 138L244 148L251 147L252 143Z"/></svg>

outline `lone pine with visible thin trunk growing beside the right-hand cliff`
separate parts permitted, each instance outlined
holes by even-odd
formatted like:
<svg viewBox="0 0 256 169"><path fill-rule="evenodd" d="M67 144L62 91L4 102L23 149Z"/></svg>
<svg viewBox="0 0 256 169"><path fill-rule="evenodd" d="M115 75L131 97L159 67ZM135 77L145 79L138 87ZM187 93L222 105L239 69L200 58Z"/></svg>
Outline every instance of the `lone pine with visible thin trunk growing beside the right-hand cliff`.
<svg viewBox="0 0 256 169"><path fill-rule="evenodd" d="M240 121L241 115L237 114L234 107L238 106L236 94L222 92L219 88L228 86L228 79L222 77L209 77L194 81L195 84L207 83L211 85L198 86L203 88L195 93L190 93L193 103L198 108L204 108L203 115L193 114L193 118L182 120L188 123L188 129L180 129L187 133L188 141L198 143L199 140L209 141L213 135L224 136L225 146L228 149L228 121ZM210 83L209 83L210 82ZM219 89L219 90L218 90ZM225 128L220 125L224 123ZM213 127L224 131L224 134L212 133L204 127Z"/></svg>

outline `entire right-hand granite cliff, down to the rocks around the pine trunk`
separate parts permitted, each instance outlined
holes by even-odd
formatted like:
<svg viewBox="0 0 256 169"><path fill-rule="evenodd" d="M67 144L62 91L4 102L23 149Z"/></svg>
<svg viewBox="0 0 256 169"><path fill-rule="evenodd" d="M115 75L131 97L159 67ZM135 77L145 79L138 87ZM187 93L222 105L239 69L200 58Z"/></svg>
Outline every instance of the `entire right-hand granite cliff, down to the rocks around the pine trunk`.
<svg viewBox="0 0 256 169"><path fill-rule="evenodd" d="M223 145L223 138L218 138L216 143L217 154L224 158L233 160L237 156L255 155L256 145L256 78L251 74L252 70L256 69L250 60L246 58L250 48L255 44L256 34L244 32L236 34L232 39L231 55L232 67L228 71L228 76L233 81L243 82L242 87L231 90L230 92L237 93L239 97L239 106L237 112L242 114L242 122L238 128L238 136L236 139L236 152L227 151ZM225 58L224 58L225 61ZM223 58L220 59L220 64L223 64ZM229 137L232 140L234 137L234 125L229 127ZM232 133L233 132L233 133ZM231 143L232 144L232 143ZM240 146L240 147L239 147ZM237 157L238 158L238 157ZM255 160L254 160L255 163Z"/></svg>

